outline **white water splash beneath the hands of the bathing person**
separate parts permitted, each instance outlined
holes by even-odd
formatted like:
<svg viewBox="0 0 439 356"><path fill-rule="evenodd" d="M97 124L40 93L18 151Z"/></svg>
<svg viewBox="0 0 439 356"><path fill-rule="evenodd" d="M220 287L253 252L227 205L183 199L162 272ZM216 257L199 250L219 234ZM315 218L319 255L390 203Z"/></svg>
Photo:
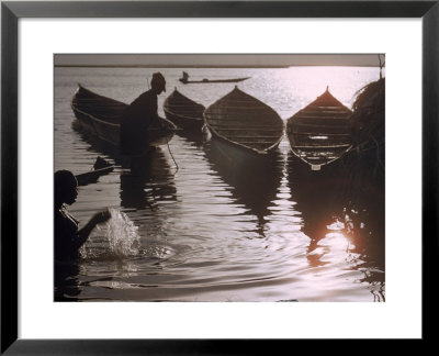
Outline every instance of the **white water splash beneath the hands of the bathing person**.
<svg viewBox="0 0 439 356"><path fill-rule="evenodd" d="M138 227L117 209L109 209L111 219L106 222L105 237L110 252L116 256L136 256L139 254L140 236Z"/></svg>

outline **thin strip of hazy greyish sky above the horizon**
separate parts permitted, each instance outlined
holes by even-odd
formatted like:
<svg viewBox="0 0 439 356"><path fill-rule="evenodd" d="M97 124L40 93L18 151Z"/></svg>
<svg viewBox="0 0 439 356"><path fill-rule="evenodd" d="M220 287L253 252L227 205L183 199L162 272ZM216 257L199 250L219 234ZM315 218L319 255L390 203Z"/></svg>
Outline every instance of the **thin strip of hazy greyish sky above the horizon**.
<svg viewBox="0 0 439 356"><path fill-rule="evenodd" d="M384 58L384 56L381 56ZM56 54L55 65L92 66L379 66L378 54Z"/></svg>

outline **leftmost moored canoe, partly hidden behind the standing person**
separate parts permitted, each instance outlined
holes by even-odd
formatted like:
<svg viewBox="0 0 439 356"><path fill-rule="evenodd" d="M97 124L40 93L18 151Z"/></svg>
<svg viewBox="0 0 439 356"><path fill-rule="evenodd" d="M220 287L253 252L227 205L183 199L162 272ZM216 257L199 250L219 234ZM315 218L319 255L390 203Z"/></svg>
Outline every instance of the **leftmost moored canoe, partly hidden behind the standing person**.
<svg viewBox="0 0 439 356"><path fill-rule="evenodd" d="M81 85L71 100L71 109L78 121L99 138L113 146L120 145L121 121L125 109L124 102L97 94ZM167 119L160 118L162 127L150 127L148 131L149 146L168 143L177 126Z"/></svg>

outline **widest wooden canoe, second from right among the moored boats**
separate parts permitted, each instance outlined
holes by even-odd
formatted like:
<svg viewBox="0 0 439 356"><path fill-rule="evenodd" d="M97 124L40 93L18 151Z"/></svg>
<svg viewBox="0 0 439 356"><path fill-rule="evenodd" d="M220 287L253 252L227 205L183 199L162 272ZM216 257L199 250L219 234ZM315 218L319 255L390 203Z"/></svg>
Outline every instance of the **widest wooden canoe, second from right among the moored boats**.
<svg viewBox="0 0 439 356"><path fill-rule="evenodd" d="M283 121L266 103L235 87L204 111L212 136L232 155L263 156L274 151L283 136ZM244 158L245 159L245 158Z"/></svg>

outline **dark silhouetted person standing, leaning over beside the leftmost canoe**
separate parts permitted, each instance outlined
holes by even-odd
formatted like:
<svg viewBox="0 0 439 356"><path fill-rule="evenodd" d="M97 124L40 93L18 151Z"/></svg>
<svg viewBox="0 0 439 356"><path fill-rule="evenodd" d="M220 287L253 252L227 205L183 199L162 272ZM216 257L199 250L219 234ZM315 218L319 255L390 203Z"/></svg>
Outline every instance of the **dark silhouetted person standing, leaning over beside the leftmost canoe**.
<svg viewBox="0 0 439 356"><path fill-rule="evenodd" d="M166 91L166 80L155 73L151 88L135 99L125 110L121 122L121 153L142 156L148 148L148 131L160 127L157 113L157 96Z"/></svg>

